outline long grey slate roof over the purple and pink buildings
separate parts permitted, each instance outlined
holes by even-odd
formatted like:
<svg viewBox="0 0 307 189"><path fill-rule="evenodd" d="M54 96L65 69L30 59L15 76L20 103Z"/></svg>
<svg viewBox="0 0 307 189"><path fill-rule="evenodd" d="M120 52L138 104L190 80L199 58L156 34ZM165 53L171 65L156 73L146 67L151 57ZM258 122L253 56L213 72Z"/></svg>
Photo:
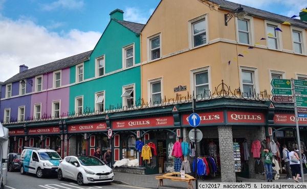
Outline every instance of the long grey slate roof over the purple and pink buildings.
<svg viewBox="0 0 307 189"><path fill-rule="evenodd" d="M85 53L81 53L78 55L74 55L68 58L64 58L61 60L57 60L48 64L40 65L37 67L33 67L31 69L27 69L24 72L18 73L15 76L11 77L10 79L6 80L5 82L1 83L1 85L12 83L16 81L20 81L23 79L32 78L35 76L39 76L41 74L46 74L49 72L54 72L56 70L60 70L63 68L67 68L73 65L76 65L78 63L81 63L85 60L88 60L92 51L88 51Z"/></svg>

